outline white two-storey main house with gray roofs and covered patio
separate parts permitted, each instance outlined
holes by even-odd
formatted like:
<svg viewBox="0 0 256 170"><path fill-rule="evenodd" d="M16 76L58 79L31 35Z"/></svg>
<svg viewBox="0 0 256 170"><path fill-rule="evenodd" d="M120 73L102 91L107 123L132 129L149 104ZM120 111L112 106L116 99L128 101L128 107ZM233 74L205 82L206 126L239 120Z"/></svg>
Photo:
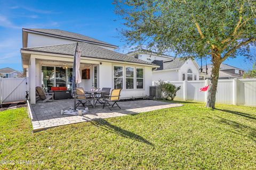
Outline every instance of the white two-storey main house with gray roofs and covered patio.
<svg viewBox="0 0 256 170"><path fill-rule="evenodd" d="M121 98L149 95L157 65L114 52L115 45L57 29L22 29L22 67L29 77L30 103L36 86L71 88L76 43L81 49L82 82L78 87L122 88Z"/></svg>

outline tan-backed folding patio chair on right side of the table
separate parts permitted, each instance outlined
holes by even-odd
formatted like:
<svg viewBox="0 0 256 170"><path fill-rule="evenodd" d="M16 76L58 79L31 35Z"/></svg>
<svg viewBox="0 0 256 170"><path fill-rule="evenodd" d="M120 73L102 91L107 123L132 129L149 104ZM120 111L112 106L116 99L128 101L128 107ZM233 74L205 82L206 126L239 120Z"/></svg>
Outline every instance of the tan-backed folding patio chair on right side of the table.
<svg viewBox="0 0 256 170"><path fill-rule="evenodd" d="M111 91L111 95L108 96L108 95L103 95L103 108L104 107L108 107L111 110L111 108L113 107L119 107L119 105L117 104L117 101L119 101L120 99L120 93L121 93L121 90L122 89L113 89ZM111 106L111 108L109 107L110 106L110 102L114 102ZM116 105L116 106L114 106ZM119 109L121 109L121 107L119 107Z"/></svg>

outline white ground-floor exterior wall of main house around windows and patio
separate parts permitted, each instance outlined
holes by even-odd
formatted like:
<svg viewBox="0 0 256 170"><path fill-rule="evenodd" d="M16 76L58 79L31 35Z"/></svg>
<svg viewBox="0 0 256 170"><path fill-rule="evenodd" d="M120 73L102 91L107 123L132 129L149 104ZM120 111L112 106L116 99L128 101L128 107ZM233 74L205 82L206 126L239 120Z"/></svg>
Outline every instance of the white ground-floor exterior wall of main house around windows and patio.
<svg viewBox="0 0 256 170"><path fill-rule="evenodd" d="M42 60L44 58L44 60ZM47 60L47 58L51 58L51 60ZM43 55L31 55L30 64L28 67L28 75L29 75L29 91L30 91L30 102L31 104L35 104L35 87L42 86L42 74L41 67L44 66L61 66L63 64L72 67L73 58L62 58L62 57L54 57L54 56L43 56ZM33 65L34 64L34 65ZM85 90L91 90L92 82L93 82L93 69L92 65L98 65L98 87L102 89L103 87L114 88L114 65L122 65L123 69L123 84L125 84L125 66L133 66L134 71L135 67L144 69L144 88L143 89L125 89L125 85L123 90L121 91L121 98L137 98L137 97L145 97L149 96L149 86L152 84L152 68L147 66L135 66L131 64L120 64L120 63L111 63L111 62L98 62L98 61L88 61L82 60L81 58L81 69L80 73L82 75L82 70L90 67L90 79L82 80L81 83L78 84L78 87L83 87ZM134 77L134 86L135 86L135 77Z"/></svg>

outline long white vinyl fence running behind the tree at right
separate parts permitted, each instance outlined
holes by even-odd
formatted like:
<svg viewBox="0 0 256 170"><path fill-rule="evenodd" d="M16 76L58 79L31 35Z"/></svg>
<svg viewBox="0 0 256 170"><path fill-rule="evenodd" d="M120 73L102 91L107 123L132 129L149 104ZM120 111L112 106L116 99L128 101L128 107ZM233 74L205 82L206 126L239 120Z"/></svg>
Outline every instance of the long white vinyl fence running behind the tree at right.
<svg viewBox="0 0 256 170"><path fill-rule="evenodd" d="M167 81L181 89L175 99L206 101L207 92L199 91L209 84L209 80L202 81ZM156 86L157 82L153 82ZM223 104L256 106L256 79L228 79L219 80L216 102Z"/></svg>

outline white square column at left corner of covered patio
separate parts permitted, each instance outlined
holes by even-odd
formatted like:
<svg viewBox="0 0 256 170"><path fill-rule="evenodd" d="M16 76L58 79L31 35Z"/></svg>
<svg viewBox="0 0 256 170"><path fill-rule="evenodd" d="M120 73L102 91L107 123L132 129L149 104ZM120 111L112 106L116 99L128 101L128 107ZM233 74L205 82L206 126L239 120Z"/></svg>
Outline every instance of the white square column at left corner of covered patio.
<svg viewBox="0 0 256 170"><path fill-rule="evenodd" d="M30 103L36 104L36 59L31 56L30 58Z"/></svg>

